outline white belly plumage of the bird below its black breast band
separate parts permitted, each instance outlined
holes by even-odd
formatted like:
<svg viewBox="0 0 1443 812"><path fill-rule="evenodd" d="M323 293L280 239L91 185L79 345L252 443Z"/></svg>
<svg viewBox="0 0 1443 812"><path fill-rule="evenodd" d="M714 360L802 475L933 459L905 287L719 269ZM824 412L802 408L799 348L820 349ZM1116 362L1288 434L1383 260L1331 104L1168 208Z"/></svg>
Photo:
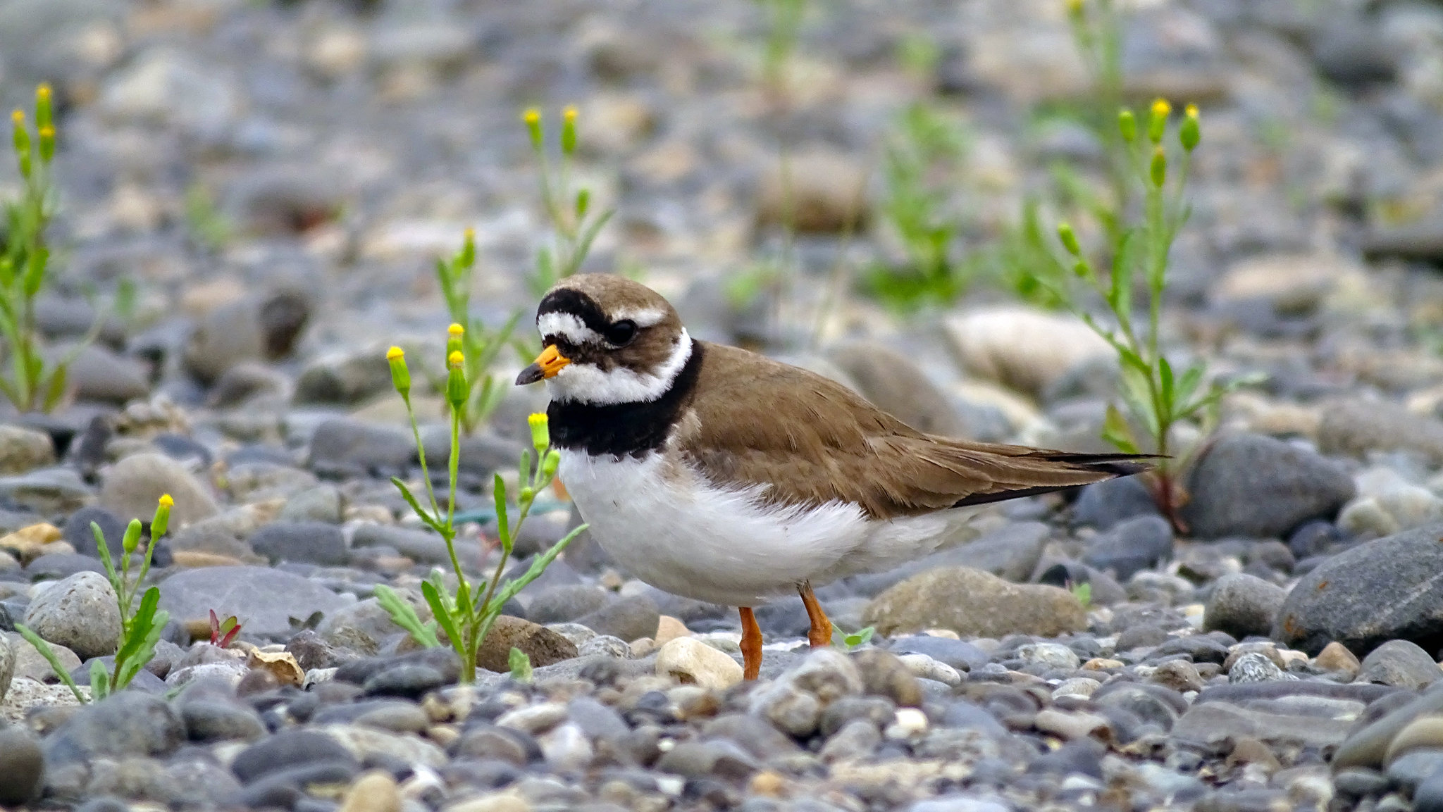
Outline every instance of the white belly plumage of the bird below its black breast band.
<svg viewBox="0 0 1443 812"><path fill-rule="evenodd" d="M592 537L618 564L665 591L759 606L846 575L887 570L961 541L974 509L869 521L833 502L804 511L758 502L760 487L713 486L658 453L644 459L561 451L558 470Z"/></svg>

